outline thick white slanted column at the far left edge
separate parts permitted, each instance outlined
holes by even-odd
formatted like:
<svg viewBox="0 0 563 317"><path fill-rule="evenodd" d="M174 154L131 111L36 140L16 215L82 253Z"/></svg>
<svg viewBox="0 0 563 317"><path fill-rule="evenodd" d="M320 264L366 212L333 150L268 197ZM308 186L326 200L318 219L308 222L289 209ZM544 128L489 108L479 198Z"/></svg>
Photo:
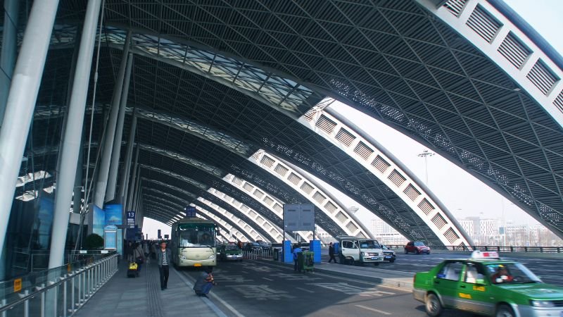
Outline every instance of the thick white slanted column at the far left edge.
<svg viewBox="0 0 563 317"><path fill-rule="evenodd" d="M15 64L0 129L0 246L4 246L15 182L39 92L58 0L34 1Z"/></svg>

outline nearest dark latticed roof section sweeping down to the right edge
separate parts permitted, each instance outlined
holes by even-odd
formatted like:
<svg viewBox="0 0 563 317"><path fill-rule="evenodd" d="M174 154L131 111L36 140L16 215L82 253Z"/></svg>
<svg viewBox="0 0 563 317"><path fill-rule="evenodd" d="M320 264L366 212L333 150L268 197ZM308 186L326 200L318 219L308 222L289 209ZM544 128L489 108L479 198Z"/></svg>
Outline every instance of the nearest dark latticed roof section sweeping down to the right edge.
<svg viewBox="0 0 563 317"><path fill-rule="evenodd" d="M558 151L554 151L558 149L557 141L552 140L563 135L561 126L545 113L545 109L537 111L541 104L519 92L525 84L519 85L507 75L512 72L510 68L502 68L500 62L491 61L475 49L474 44L479 45L478 41L485 39L498 46L491 46L486 51L498 51L503 44L512 45L524 51L523 56L531 56L536 61L540 54L535 51L531 54L533 47L527 47L532 46L531 43L520 38L515 30L512 34L516 39L510 41L512 44L506 44L506 32L509 35L511 32L499 27L499 20L500 26L509 23L494 13L486 2L479 2L483 3L484 13L476 14L474 20L473 11L457 12L448 2L389 1L349 4L344 8L340 2L310 1L307 4L292 2L253 8L262 13L261 18L270 17L267 30L259 27L258 21L248 20L248 8L236 5L225 8L220 15L198 16L196 21L186 15L182 25L172 20L166 20L166 23L174 26L173 33L177 37L189 38L211 48L221 46L222 51L246 58L251 63L283 69L298 80L306 80L308 87L336 91L333 97L350 102L441 152L562 237L561 175L550 168L563 161ZM445 13L441 14L467 20L469 23L466 24L476 32L467 36L471 40L460 38L456 30L465 20L457 20L456 29L448 27L437 20L434 13L419 5L428 3L445 4L446 9L441 8ZM475 1L467 3L469 8L476 7ZM110 23L126 16L139 27L150 30L153 22L137 15L150 11L150 7L138 2L136 5L139 11L129 15L110 4L115 12L120 12L109 17ZM335 14L326 21L324 15L316 14L321 11ZM369 21L377 23L367 23L367 16ZM310 23L289 23L298 18L308 19ZM191 34L191 29L186 27L223 19L229 23L217 23L215 32L205 32L205 35ZM476 20L486 20L493 25L493 32L483 32L486 27ZM248 25L243 27L239 24L241 21ZM256 32L262 35L260 41L274 41L275 47L253 42L254 37L250 35ZM278 36L280 32L283 37ZM236 39L222 37L231 34L236 34ZM386 45L390 43L392 45ZM524 46L524 49L517 46ZM507 50L510 49L505 52ZM527 60L530 58L524 58ZM545 80L547 85L540 85L541 89L549 94L550 104L560 106L563 97L558 79L562 76L557 68L550 69L552 62L549 58L540 61L547 65L526 64L530 71L525 80ZM514 61L516 65L517 62ZM514 68L514 63L510 63L510 67ZM516 120L514 114L517 113L525 114ZM502 125L503 119L510 124ZM557 137L552 138L554 135ZM493 142L489 142L491 139ZM535 159L534 151L527 150L530 147L537 149L538 155L543 157Z"/></svg>

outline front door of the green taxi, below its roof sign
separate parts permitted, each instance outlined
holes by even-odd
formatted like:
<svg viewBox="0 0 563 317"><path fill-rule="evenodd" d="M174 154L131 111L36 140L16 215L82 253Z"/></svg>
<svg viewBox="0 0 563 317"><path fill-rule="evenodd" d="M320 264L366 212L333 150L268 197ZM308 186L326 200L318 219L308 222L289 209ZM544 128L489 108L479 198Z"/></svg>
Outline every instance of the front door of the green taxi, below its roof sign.
<svg viewBox="0 0 563 317"><path fill-rule="evenodd" d="M485 278L483 265L469 262L464 267L463 275L458 292L458 307L474 313L494 313L495 304L491 302L491 285L488 285L488 280Z"/></svg>

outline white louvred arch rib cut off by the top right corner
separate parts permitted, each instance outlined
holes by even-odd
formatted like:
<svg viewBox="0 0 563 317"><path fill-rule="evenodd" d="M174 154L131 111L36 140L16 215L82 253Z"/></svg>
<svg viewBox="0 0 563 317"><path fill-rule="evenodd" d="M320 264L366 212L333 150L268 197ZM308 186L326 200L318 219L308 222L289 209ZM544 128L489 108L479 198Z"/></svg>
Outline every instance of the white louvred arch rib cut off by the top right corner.
<svg viewBox="0 0 563 317"><path fill-rule="evenodd" d="M450 25L518 82L563 126L563 70L519 27L486 0L433 0L418 4Z"/></svg>

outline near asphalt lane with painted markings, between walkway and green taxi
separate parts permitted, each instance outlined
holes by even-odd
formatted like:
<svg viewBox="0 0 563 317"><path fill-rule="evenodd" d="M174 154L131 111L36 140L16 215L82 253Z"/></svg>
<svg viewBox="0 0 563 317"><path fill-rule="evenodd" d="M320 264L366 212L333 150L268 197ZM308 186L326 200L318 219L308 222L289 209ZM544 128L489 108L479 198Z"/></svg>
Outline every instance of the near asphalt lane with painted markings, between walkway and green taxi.
<svg viewBox="0 0 563 317"><path fill-rule="evenodd" d="M196 269L181 273L190 280L201 274ZM213 275L218 285L209 300L227 316L426 316L410 292L322 273L295 273L267 261L222 262ZM472 315L445 311L443 316Z"/></svg>

